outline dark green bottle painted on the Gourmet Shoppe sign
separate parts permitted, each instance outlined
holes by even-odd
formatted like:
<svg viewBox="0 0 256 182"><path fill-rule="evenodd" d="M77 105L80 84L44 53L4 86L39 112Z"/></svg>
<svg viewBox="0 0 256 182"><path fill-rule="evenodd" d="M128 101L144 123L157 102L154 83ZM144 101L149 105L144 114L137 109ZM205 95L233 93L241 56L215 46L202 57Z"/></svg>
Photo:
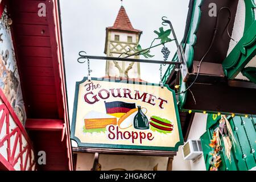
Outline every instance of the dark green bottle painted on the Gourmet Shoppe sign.
<svg viewBox="0 0 256 182"><path fill-rule="evenodd" d="M141 106L138 106L138 113L135 115L133 120L133 126L135 129L147 130L149 129L148 119L141 110Z"/></svg>

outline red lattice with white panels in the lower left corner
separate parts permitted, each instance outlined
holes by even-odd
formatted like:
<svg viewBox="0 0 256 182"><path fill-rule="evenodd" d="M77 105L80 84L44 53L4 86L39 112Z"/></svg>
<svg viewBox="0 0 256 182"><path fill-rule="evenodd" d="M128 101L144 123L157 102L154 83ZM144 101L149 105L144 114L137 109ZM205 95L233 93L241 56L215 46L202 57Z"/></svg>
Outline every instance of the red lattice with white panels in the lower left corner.
<svg viewBox="0 0 256 182"><path fill-rule="evenodd" d="M0 151L0 170L35 169L35 156L30 138L1 89Z"/></svg>

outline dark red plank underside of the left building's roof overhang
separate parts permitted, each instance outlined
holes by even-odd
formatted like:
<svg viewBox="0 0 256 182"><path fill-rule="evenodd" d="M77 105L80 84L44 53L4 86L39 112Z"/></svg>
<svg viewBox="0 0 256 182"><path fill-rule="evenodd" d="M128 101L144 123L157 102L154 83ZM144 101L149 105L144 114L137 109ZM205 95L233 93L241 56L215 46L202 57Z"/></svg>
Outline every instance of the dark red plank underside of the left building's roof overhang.
<svg viewBox="0 0 256 182"><path fill-rule="evenodd" d="M12 1L13 30L28 118L58 119L56 68L53 62L49 19L38 16L46 1ZM47 10L48 12L48 10Z"/></svg>

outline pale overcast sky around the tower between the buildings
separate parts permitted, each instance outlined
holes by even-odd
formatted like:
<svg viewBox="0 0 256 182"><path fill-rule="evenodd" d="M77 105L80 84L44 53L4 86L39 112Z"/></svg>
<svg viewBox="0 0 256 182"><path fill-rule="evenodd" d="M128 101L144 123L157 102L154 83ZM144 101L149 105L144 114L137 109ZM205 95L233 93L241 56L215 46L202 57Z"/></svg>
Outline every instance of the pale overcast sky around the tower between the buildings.
<svg viewBox="0 0 256 182"><path fill-rule="evenodd" d="M142 30L142 48L150 46L156 34L154 30L162 27L162 16L167 16L180 42L185 30L189 0L123 0L123 6L135 29ZM121 6L120 0L61 0L61 27L64 45L65 73L67 78L69 117L72 119L73 100L76 81L88 74L87 64L77 62L79 51L88 55L105 56L106 27L113 26ZM164 26L164 29L168 29ZM166 45L171 55L175 53L175 43ZM151 50L152 59L163 60L162 47ZM143 56L141 56L144 59ZM142 80L159 83L159 64L141 64ZM105 76L105 61L91 60L92 77ZM164 67L163 74L166 71ZM72 120L71 120L72 121Z"/></svg>

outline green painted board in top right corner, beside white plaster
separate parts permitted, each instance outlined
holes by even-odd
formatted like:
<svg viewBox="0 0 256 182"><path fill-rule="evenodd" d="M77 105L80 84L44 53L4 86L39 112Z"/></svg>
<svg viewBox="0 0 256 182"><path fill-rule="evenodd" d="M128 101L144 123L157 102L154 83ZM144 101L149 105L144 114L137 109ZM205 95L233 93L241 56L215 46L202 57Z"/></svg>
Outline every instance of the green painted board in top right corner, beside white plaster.
<svg viewBox="0 0 256 182"><path fill-rule="evenodd" d="M243 32L246 32L251 24L255 21L255 13L254 9L256 8L256 5L254 3L254 0L244 0L245 2L245 28Z"/></svg>

